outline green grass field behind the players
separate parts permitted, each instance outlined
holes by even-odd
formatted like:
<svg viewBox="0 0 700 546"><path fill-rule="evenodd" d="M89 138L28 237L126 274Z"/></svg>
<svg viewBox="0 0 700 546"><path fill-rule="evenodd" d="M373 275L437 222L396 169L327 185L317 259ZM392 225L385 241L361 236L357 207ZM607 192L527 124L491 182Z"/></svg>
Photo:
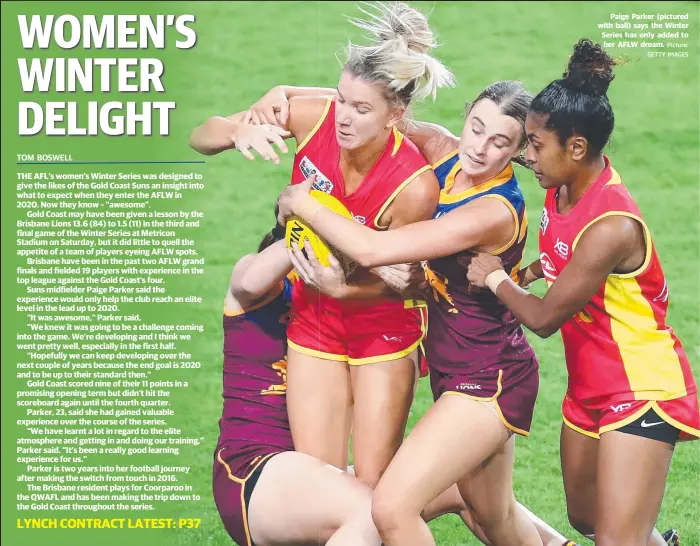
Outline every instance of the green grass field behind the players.
<svg viewBox="0 0 700 546"><path fill-rule="evenodd" d="M697 3L419 3L432 10L431 24L443 44L439 57L454 71L456 89L439 94L435 104L417 105L414 116L459 133L466 100L489 83L519 79L533 90L563 72L573 44L582 37L600 41L598 23L610 13L691 13L690 58L651 59L646 50L630 50L630 62L617 70L609 96L616 129L607 153L646 216L670 286L670 323L698 368L698 9ZM336 53L358 33L344 15L356 15L352 3L243 2L178 4L197 15L199 41L182 66L169 65L177 89L175 132L186 138L191 128L214 114L247 107L275 84L335 86L340 73ZM619 55L626 50L613 50ZM171 94L172 95L172 94ZM188 156L188 158L190 158ZM197 159L194 153L192 159ZM192 482L209 494L211 450L217 434L221 400L220 309L231 266L252 251L273 223L276 195L288 183L292 163L249 163L237 153L207 159L206 190L192 208L206 213L198 248L206 274L193 288L206 305L193 316L205 324L197 349L203 363L189 397L178 404L184 433L199 434L205 448L193 461ZM526 260L537 256L535 226L543 192L534 177L517 171L531 225ZM183 280L184 282L184 280ZM541 290L541 287L538 288ZM530 334L541 361L541 389L529 439L518 438L515 491L518 499L572 538L559 466L560 403L566 386L561 338L540 340ZM421 382L411 411L412 426L432 403ZM206 447L209 446L209 447ZM700 544L700 443L678 446L659 517L659 528L678 528L685 545ZM199 507L199 508L198 508ZM172 544L229 544L211 495L188 514L201 516L194 534L173 534ZM204 508L202 508L204 507ZM433 524L438 544L478 544L453 517Z"/></svg>

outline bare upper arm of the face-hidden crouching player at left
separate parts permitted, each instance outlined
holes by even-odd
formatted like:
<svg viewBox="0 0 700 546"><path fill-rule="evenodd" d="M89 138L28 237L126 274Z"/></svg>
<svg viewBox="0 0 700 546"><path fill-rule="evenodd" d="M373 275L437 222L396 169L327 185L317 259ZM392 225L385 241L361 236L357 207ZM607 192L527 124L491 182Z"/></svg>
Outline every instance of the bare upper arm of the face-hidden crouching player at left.
<svg viewBox="0 0 700 546"><path fill-rule="evenodd" d="M229 290L241 308L250 307L274 292L292 270L284 241L258 254L243 256L233 268Z"/></svg>

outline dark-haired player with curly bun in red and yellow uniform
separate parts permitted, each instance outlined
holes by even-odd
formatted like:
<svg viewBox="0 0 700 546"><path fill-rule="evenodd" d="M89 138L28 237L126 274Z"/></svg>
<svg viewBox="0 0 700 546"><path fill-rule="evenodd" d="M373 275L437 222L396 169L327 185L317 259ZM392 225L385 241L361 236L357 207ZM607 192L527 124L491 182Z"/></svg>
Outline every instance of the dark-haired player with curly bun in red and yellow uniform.
<svg viewBox="0 0 700 546"><path fill-rule="evenodd" d="M546 190L544 298L480 254L488 286L541 337L561 329L569 372L561 461L569 519L603 546L666 544L654 529L677 441L700 436L697 387L666 322L669 288L641 212L602 150L614 125L613 59L581 40L561 79L532 102L526 160Z"/></svg>

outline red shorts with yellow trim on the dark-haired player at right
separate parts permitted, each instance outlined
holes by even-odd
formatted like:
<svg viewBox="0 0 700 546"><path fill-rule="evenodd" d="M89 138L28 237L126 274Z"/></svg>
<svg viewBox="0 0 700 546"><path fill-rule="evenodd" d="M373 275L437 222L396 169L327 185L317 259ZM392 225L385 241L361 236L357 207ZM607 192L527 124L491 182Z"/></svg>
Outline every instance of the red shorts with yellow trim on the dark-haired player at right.
<svg viewBox="0 0 700 546"><path fill-rule="evenodd" d="M591 438L620 429L650 409L680 431L678 441L700 438L700 410L695 392L673 400L635 400L634 393L630 393L629 400L615 397L612 401L606 396L585 403L567 393L562 404L564 423Z"/></svg>

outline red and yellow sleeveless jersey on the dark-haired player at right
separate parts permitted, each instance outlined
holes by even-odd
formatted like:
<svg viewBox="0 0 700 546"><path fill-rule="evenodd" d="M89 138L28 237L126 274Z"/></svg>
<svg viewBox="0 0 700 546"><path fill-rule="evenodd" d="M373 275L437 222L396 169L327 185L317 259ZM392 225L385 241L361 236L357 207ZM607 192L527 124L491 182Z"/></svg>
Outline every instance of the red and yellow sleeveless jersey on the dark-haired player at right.
<svg viewBox="0 0 700 546"><path fill-rule="evenodd" d="M569 395L672 400L697 392L681 342L666 324L668 284L649 228L620 175L605 169L567 215L557 212L557 188L547 191L540 223L540 261L551 285L566 267L583 233L609 216L638 221L646 240L642 265L611 273L576 316L561 328Z"/></svg>

